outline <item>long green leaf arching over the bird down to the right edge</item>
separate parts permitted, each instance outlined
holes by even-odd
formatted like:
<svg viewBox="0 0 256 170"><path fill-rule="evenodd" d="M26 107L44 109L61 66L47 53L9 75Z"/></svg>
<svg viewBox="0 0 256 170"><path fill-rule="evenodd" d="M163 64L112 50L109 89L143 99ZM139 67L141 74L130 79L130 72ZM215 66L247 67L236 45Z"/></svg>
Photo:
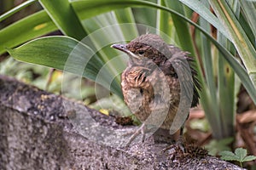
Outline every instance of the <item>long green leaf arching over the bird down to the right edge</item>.
<svg viewBox="0 0 256 170"><path fill-rule="evenodd" d="M182 14L178 14L177 11L172 10L170 8L166 8L160 5L157 5L155 3L150 3L146 1L137 1L137 0L113 0L113 1L104 1L104 0L74 0L72 1L72 5L75 8L76 11L79 12L79 17L81 19L86 19L90 16L93 16L93 14L99 14L103 12L107 12L109 10L117 9L117 8L126 8L126 7L150 7L150 8L159 8L162 10L165 10L171 14L174 14L178 17L181 17L181 19L186 20L191 25L198 28L202 33L204 33L207 38L209 38L214 45L218 48L218 50L224 54L224 58L228 60L232 68L236 71L236 74L238 77L240 77L241 82L243 82L245 88L249 92L250 96L252 97L254 103L256 103L256 90L253 87L253 83L250 80L250 77L248 77L247 71L241 66L238 61L230 54L229 51L227 51L226 48L222 47L216 40L207 32L205 31L201 26L196 25L193 21L189 20ZM96 12L95 8L97 8L100 12Z"/></svg>

